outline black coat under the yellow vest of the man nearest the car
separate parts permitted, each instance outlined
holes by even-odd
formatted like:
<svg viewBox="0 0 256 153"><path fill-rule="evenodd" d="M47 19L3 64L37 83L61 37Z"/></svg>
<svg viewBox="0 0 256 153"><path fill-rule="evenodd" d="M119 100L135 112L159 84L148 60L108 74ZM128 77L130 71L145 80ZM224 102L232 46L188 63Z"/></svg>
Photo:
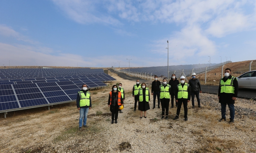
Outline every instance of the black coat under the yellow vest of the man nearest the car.
<svg viewBox="0 0 256 153"><path fill-rule="evenodd" d="M231 75L228 78L223 77L221 80L226 82L228 79L231 79L231 77L232 77ZM221 93L221 82L220 82L219 91L218 91L218 96L220 96L219 103L235 104L235 100L232 100L232 97L237 97L237 94L238 94L237 78L234 78L233 85L235 88L235 91L234 91L235 93L225 93L225 92Z"/></svg>

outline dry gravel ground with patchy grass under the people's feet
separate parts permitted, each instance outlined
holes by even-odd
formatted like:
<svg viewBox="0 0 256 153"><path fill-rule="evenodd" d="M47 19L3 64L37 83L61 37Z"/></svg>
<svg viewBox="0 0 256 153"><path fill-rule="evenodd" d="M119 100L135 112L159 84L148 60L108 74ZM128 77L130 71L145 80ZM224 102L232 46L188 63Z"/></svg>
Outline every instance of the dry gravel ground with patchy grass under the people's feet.
<svg viewBox="0 0 256 153"><path fill-rule="evenodd" d="M30 110L6 119L1 114L0 152L256 152L256 101L237 98L235 123L229 124L229 120L218 122L221 107L217 95L200 94L202 108L192 109L190 102L188 121L182 118L183 108L178 120L172 120L176 108L169 109L169 120L161 120L161 109L152 109L151 96L147 118L140 119L139 111L133 112L131 91L135 81L116 74L112 77L117 81L91 91L88 128L82 131L78 130L75 103L53 106L50 111ZM107 99L117 82L125 89L125 107L118 123L111 124Z"/></svg>

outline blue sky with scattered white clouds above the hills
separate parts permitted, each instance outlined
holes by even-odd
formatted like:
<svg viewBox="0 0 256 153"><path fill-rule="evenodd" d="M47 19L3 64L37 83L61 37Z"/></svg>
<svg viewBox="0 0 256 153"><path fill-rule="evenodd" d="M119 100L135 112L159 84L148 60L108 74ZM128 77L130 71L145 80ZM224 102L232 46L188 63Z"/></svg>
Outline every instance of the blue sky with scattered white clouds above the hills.
<svg viewBox="0 0 256 153"><path fill-rule="evenodd" d="M0 64L149 67L255 60L254 0L2 0Z"/></svg>

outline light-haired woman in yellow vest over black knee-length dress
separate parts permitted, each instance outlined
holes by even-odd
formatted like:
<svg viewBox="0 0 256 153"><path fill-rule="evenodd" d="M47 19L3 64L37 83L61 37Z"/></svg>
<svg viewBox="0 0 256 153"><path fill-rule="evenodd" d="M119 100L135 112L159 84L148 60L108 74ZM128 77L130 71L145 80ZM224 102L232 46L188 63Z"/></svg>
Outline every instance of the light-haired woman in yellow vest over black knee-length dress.
<svg viewBox="0 0 256 153"><path fill-rule="evenodd" d="M150 94L149 88L147 88L145 83L141 84L141 88L139 88L138 95L138 109L140 110L140 118L142 119L142 113L144 111L144 118L147 118L147 110L150 109L149 101L150 101Z"/></svg>

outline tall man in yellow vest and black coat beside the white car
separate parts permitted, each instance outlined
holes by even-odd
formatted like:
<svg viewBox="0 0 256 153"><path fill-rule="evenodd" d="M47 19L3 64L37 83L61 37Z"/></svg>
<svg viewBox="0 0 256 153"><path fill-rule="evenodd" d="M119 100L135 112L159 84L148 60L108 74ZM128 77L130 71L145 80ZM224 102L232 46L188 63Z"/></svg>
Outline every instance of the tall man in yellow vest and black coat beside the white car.
<svg viewBox="0 0 256 153"><path fill-rule="evenodd" d="M238 94L238 82L237 78L230 75L231 69L225 69L225 77L220 80L218 99L221 103L221 121L226 121L226 106L229 106L230 121L234 123L235 118L235 100Z"/></svg>

